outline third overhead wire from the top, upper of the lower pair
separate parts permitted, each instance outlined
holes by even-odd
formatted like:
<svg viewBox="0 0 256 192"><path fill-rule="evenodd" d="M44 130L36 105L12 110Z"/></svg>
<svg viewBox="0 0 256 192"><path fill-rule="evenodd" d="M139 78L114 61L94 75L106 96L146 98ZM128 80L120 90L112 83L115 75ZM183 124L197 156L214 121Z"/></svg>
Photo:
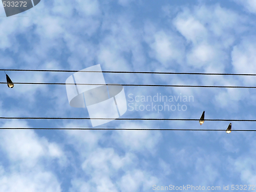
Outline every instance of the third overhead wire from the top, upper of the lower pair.
<svg viewBox="0 0 256 192"><path fill-rule="evenodd" d="M0 119L95 119L95 120L153 120L153 121L199 121L199 119L168 119L168 118L90 118L90 117L0 117ZM204 121L256 121L256 119L204 119Z"/></svg>

